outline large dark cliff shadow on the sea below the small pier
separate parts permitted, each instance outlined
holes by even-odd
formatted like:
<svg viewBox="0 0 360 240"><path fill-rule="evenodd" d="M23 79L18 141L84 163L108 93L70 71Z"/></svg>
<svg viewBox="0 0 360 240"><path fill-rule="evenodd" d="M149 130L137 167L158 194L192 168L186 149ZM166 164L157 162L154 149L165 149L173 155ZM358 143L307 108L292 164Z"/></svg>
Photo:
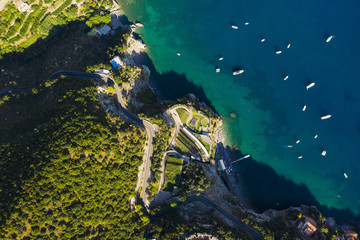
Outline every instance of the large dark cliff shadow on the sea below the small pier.
<svg viewBox="0 0 360 240"><path fill-rule="evenodd" d="M228 149L229 150L229 149ZM243 156L239 150L230 150L234 158ZM266 164L256 162L252 158L234 164L241 185L244 186L246 196L258 212L272 209L285 209L301 204L316 206L327 217L334 217L337 221L360 220L350 209L339 210L320 205L304 184L294 182L278 175Z"/></svg>

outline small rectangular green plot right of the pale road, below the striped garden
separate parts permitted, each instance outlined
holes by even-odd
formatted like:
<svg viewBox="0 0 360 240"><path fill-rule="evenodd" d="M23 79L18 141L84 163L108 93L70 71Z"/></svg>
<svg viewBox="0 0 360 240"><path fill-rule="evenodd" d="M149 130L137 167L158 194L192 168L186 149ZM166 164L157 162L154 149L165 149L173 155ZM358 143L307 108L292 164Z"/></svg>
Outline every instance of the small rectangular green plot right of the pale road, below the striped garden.
<svg viewBox="0 0 360 240"><path fill-rule="evenodd" d="M165 191L171 192L180 181L183 160L181 158L167 157L165 168Z"/></svg>

